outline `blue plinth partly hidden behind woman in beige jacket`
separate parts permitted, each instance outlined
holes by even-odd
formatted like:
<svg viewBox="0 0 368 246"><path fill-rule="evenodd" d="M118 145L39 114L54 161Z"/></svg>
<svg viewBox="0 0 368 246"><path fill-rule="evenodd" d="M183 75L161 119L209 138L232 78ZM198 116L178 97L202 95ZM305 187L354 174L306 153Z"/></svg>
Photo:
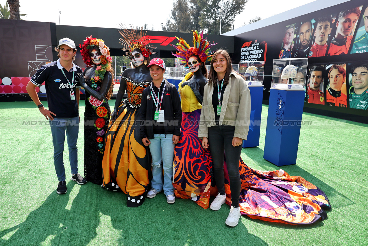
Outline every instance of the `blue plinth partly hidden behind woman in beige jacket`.
<svg viewBox="0 0 368 246"><path fill-rule="evenodd" d="M263 86L250 86L251 92L251 121L247 141L243 141L243 148L259 146L259 133L261 131Z"/></svg>

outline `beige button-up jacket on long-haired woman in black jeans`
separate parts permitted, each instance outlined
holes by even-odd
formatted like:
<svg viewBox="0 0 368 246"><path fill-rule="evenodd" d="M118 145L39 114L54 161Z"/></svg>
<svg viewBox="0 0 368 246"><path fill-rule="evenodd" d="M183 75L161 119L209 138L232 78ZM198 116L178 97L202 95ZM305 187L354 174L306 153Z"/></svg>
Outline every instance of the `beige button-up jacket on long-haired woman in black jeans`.
<svg viewBox="0 0 368 246"><path fill-rule="evenodd" d="M207 83L204 88L198 137L208 137L208 127L215 126L215 111L212 105L213 85ZM247 140L251 114L251 95L244 79L231 72L229 84L223 95L220 113L220 125L235 126L234 137Z"/></svg>

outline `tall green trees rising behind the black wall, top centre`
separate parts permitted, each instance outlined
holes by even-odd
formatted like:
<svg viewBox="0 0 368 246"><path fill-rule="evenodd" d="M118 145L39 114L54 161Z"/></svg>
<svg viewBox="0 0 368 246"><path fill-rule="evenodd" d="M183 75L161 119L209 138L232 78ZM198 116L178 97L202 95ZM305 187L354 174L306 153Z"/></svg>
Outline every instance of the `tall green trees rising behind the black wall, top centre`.
<svg viewBox="0 0 368 246"><path fill-rule="evenodd" d="M220 9L222 33L233 29L235 17L248 0L176 0L171 17L161 24L163 31L191 32L205 30L207 34L220 34Z"/></svg>

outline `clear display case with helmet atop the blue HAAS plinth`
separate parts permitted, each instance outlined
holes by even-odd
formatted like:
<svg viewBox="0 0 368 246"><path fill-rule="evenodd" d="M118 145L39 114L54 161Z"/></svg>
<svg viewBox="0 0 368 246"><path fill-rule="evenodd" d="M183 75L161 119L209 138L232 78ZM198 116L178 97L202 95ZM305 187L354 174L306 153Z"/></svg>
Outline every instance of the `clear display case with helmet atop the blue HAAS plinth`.
<svg viewBox="0 0 368 246"><path fill-rule="evenodd" d="M271 89L305 90L307 58L273 59Z"/></svg>

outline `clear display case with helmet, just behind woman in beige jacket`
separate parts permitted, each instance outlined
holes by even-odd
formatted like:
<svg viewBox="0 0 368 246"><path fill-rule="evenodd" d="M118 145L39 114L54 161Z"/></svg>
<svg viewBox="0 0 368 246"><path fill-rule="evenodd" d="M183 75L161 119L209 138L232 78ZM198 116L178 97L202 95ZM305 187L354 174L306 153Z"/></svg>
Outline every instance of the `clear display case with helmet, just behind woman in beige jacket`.
<svg viewBox="0 0 368 246"><path fill-rule="evenodd" d="M248 86L263 86L264 61L240 61L238 66Z"/></svg>

